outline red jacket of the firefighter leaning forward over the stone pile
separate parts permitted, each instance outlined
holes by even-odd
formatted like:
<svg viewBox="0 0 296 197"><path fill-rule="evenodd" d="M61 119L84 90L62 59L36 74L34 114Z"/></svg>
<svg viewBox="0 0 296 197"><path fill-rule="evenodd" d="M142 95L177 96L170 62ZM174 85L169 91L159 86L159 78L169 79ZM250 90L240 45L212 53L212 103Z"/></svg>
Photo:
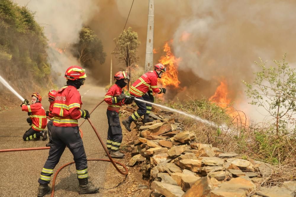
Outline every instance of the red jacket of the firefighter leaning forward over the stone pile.
<svg viewBox="0 0 296 197"><path fill-rule="evenodd" d="M154 93L160 92L159 88L157 87L157 78L156 71L149 71L143 74L131 85L131 95L141 97L146 94L149 89L152 89Z"/></svg>

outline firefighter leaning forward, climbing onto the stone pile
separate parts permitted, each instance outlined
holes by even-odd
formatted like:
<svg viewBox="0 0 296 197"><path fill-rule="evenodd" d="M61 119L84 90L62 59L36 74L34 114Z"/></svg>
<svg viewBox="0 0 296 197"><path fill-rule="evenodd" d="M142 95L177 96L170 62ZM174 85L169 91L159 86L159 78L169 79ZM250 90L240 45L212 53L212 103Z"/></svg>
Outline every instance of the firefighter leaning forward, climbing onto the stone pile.
<svg viewBox="0 0 296 197"><path fill-rule="evenodd" d="M166 71L163 64L156 64L154 66L154 71L149 71L143 74L139 79L136 80L131 86L130 94L137 97L138 99L154 102L153 92L154 93L164 93L166 92L165 88L157 87L157 78L161 78L162 74ZM126 120L123 120L122 123L128 131L131 131L131 122L136 121L142 115L144 115L143 123L151 122L153 119L149 118L149 113L152 109L152 104L145 104L141 101L135 101L139 109L129 116Z"/></svg>

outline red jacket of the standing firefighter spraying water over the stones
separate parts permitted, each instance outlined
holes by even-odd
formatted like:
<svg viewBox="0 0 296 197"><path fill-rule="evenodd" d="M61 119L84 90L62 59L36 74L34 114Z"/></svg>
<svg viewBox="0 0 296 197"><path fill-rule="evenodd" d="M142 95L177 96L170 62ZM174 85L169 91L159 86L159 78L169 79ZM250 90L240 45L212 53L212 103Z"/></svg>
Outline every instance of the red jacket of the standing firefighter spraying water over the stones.
<svg viewBox="0 0 296 197"><path fill-rule="evenodd" d="M118 101L116 96L120 95L123 92L123 88L119 87L117 84L112 85L106 95L104 96L104 101L108 104L108 110L116 111L117 113L120 110L124 100Z"/></svg>

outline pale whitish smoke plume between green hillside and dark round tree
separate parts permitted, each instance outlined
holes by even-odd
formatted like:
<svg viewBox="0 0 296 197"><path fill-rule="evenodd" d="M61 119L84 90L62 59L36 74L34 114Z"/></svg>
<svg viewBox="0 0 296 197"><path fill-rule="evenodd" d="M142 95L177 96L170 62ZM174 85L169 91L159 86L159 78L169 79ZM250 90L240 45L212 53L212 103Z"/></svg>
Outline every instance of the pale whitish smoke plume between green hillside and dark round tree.
<svg viewBox="0 0 296 197"><path fill-rule="evenodd" d="M36 21L44 26L44 32L49 42L49 62L59 84L65 83L65 69L71 65L79 65L77 60L67 51L67 46L76 43L79 31L86 22L98 12L98 7L92 0L15 0L20 6L27 6L35 12Z"/></svg>

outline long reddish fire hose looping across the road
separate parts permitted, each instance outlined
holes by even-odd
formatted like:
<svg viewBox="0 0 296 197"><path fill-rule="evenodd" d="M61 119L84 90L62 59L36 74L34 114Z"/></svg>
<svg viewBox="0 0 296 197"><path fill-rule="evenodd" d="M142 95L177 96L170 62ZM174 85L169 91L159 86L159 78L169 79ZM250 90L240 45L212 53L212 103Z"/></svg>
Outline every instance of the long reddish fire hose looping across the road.
<svg viewBox="0 0 296 197"><path fill-rule="evenodd" d="M99 102L99 103L94 107L94 109L91 111L91 113L93 113L93 111L94 111L94 110L95 110L95 109L96 109L96 108L97 108L102 102L104 102L104 100L102 100L101 102ZM90 114L91 114L91 113L90 113ZM91 127L94 129L94 132L96 133L96 136L98 137L99 141L101 142L101 144L102 144L102 146L103 146L103 148L104 148L104 151L106 152L107 156L109 157L109 159L87 159L87 160L88 160L88 161L105 161L105 162L111 162L111 163L113 164L113 166L115 167L115 169L116 169L120 174L122 174L122 175L127 175L127 174L128 174L128 169L126 168L126 165L124 165L124 164L122 164L122 163L120 163L120 162L114 161L114 160L112 159L112 157L110 156L110 154L109 154L109 152L108 152L108 150L107 150L107 147L105 146L105 144L104 144L104 142L103 142L101 136L99 135L99 133L97 132L96 128L95 128L94 125L92 124L91 120L90 120L89 118L87 118L87 120L89 121ZM86 121L86 119L83 120L83 122L79 125L79 127L81 127L81 125L82 125L85 121ZM81 133L81 138L82 138L82 136L83 136L83 132L82 132L82 130L81 130L80 128L79 128L79 131L80 131L80 133ZM21 149L3 149L3 150L0 150L0 152L28 151L28 150L43 150L43 149L50 149L50 147L21 148ZM67 164L61 166L61 167L57 170L57 172L54 174L54 178L53 178L53 180L52 180L52 194L51 194L51 197L54 196L54 185L55 185L55 180L56 180L56 178L57 178L57 175L59 174L59 172L60 172L64 167L66 167L66 166L68 166L68 165L71 165L71 164L73 164L73 163L75 163L75 162L73 161L73 162L70 162L70 163L67 163ZM116 164L121 165L121 166L124 168L125 172L121 171L121 170L117 167Z"/></svg>

